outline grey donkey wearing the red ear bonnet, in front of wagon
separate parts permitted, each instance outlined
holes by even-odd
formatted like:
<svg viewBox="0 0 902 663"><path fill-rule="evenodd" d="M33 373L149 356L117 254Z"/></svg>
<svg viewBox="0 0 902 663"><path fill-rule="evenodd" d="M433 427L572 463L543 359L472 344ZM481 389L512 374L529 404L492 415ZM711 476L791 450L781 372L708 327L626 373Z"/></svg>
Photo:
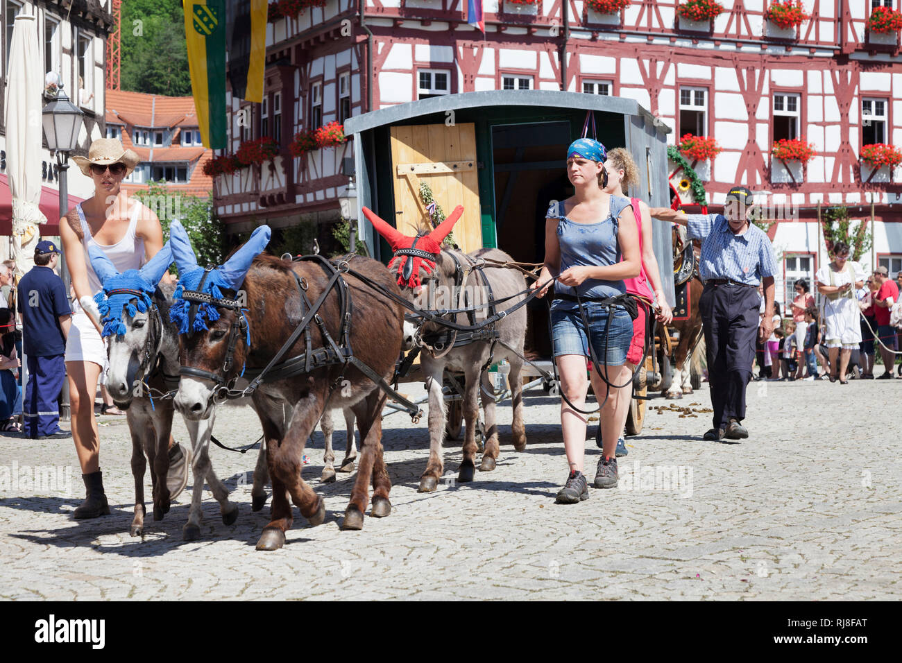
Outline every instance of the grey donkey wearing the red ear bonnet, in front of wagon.
<svg viewBox="0 0 902 663"><path fill-rule="evenodd" d="M424 296L430 301L419 308L437 308L437 298L444 298L440 308L478 307L490 299L507 299L504 308L516 305L525 297L514 297L526 290L526 281L520 272L492 267L485 261L494 263L512 262L507 253L498 249L480 249L474 253L463 253L448 247L442 247L446 235L463 213L463 207L456 207L440 226L429 232L420 233L416 237L402 235L389 226L373 211L364 207L364 215L373 224L373 228L391 244L395 257L389 263L396 263L398 283L408 300L422 303ZM467 295L473 293L473 299ZM450 295L450 296L449 296ZM489 308L473 308L471 313L452 315L451 320L459 325L474 325L480 318L485 319ZM483 332L465 332L456 334L448 332L440 323L427 321L419 327L419 338L424 341L427 352L421 355L420 367L426 376L426 387L429 392L429 460L426 471L419 480L419 492L429 493L436 490L438 479L442 474L442 438L445 435L446 412L442 395L442 378L446 369L462 371L465 374L464 418L466 433L464 437L464 459L458 469L457 480L473 481L476 465L475 442L476 424L479 417L479 389L483 389L483 411L485 414L485 447L480 465L482 472L490 472L495 468L500 453L498 428L495 424L495 401L492 397L492 381L488 373L489 364L506 359L511 364L511 394L513 402L513 445L517 451L526 448L526 428L523 426L523 394L520 383L520 369L523 366L523 343L526 336L526 308L520 307L510 316L506 316L494 325L496 338L488 337ZM486 330L491 331L491 330ZM440 339L429 348L429 339ZM436 351L435 345L444 345Z"/></svg>

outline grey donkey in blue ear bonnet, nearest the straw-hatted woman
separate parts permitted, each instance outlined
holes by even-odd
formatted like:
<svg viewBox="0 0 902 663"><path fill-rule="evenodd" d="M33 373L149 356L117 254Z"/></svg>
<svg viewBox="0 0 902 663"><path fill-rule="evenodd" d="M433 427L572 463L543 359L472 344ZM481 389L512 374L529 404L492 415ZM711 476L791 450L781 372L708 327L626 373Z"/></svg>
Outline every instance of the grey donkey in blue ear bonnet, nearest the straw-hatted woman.
<svg viewBox="0 0 902 663"><path fill-rule="evenodd" d="M179 335L169 319L174 288L169 284L156 285L172 262L170 244L164 245L141 270L121 274L94 244L88 246L88 257L103 284L96 299L110 364L106 389L116 407L125 410L132 434L134 520L130 532L133 537L140 537L146 515L144 456L151 464L153 520L161 520L170 510L166 474L173 407L170 399L152 401L151 395L152 390L166 391L167 382L178 380L179 376ZM228 501L226 487L216 478L207 456L213 418L185 423L193 447L194 495L183 537L192 540L200 535L200 498L205 479L219 502L226 525L235 522L238 507Z"/></svg>

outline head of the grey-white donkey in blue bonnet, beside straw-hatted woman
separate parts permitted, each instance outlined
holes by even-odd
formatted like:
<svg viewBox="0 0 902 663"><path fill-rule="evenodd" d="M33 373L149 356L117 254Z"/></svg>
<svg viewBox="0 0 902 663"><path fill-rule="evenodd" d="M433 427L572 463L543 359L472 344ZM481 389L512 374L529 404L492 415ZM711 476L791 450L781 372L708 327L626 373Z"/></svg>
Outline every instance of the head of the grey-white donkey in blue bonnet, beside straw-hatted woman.
<svg viewBox="0 0 902 663"><path fill-rule="evenodd" d="M163 328L152 298L169 269L172 252L167 242L140 270L122 273L97 244L88 244L87 255L103 284L94 300L100 310L110 363L106 390L116 406L124 409L156 361Z"/></svg>

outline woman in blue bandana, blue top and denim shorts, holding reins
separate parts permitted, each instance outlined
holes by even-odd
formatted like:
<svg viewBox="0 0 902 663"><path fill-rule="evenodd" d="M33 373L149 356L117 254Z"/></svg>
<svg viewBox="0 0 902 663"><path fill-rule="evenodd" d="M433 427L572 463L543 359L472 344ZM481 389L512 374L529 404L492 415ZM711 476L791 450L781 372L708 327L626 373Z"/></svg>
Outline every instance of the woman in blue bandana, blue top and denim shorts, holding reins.
<svg viewBox="0 0 902 663"><path fill-rule="evenodd" d="M567 177L575 195L564 201L552 200L545 221L545 264L534 288L557 276L551 303L551 328L554 356L565 397L561 402L561 433L569 464L564 488L557 502L581 502L589 496L583 474L587 383L586 360L589 344L600 366L592 370L595 398L603 406L600 412L604 447L594 485L617 485L617 460L614 455L621 431L615 417L622 399L631 396L630 367L626 355L632 340L632 318L622 305L609 313L604 299L623 296L624 279L639 276L639 232L630 201L612 196L607 186L602 143L581 138L567 150ZM545 285L539 297L548 290ZM578 299L577 299L578 298ZM582 302L585 320L579 308ZM603 374L599 375L599 372ZM608 384L618 385L609 390ZM623 385L623 386L619 386ZM572 404L572 405L571 405Z"/></svg>

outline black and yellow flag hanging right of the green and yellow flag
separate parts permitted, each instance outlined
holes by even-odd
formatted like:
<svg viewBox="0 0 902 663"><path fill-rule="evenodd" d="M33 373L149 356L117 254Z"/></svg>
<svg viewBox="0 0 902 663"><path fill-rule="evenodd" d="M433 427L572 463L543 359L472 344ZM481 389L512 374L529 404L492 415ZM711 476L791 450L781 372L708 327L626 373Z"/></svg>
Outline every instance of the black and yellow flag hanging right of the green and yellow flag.
<svg viewBox="0 0 902 663"><path fill-rule="evenodd" d="M228 5L228 78L232 95L261 103L266 67L268 0L244 0Z"/></svg>

